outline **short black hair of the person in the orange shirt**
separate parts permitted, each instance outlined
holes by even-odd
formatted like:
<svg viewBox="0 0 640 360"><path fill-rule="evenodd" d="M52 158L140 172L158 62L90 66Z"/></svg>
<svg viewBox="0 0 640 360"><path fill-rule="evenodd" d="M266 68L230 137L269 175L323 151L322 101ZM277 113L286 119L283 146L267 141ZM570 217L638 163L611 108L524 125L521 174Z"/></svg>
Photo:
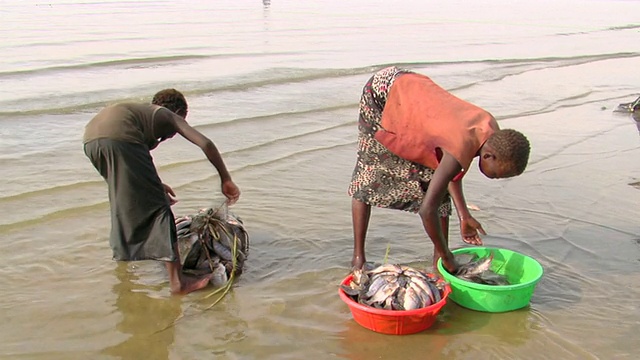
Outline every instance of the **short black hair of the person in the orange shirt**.
<svg viewBox="0 0 640 360"><path fill-rule="evenodd" d="M493 133L487 144L496 152L499 161L510 163L515 175L524 172L529 162L531 144L526 136L513 129L501 129Z"/></svg>

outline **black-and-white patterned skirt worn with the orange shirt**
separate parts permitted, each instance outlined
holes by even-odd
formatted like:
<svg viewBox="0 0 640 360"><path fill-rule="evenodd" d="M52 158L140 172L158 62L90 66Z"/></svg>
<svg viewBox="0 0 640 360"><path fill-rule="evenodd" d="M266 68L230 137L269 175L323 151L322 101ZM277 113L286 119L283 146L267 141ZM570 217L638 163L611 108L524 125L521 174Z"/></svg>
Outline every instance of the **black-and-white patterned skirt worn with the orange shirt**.
<svg viewBox="0 0 640 360"><path fill-rule="evenodd" d="M418 212L433 169L402 159L380 144L374 134L380 127L382 110L393 81L408 70L389 67L375 73L360 98L358 159L349 185L349 195L372 206ZM447 194L438 212L451 215Z"/></svg>

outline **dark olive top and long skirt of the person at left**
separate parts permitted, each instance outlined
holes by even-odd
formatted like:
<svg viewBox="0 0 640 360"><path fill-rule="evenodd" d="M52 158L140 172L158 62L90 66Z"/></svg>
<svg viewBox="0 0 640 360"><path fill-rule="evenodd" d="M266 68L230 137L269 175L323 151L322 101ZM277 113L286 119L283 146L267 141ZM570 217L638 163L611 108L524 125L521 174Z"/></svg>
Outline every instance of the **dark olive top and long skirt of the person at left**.
<svg viewBox="0 0 640 360"><path fill-rule="evenodd" d="M170 110L125 103L104 108L86 126L84 152L109 187L114 260L177 261L175 220L150 150Z"/></svg>

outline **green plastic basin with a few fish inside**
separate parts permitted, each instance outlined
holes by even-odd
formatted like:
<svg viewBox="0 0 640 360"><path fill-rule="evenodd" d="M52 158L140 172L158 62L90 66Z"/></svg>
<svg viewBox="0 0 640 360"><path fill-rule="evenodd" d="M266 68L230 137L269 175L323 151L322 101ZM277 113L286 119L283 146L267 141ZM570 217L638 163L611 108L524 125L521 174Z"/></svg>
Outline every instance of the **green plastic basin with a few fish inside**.
<svg viewBox="0 0 640 360"><path fill-rule="evenodd" d="M484 285L459 279L451 275L438 260L438 271L451 284L449 299L465 308L484 312L506 312L529 305L531 296L543 270L538 261L515 251L490 247L468 247L451 251L456 254L493 253L491 270L505 275L511 285Z"/></svg>

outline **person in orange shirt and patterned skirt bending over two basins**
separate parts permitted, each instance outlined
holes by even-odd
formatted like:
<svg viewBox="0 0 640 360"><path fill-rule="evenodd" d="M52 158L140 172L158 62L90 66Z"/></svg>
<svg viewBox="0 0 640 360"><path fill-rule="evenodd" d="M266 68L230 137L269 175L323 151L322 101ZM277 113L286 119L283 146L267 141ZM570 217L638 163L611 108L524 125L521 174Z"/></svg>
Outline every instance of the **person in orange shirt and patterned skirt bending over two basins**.
<svg viewBox="0 0 640 360"><path fill-rule="evenodd" d="M365 238L371 206L418 213L433 242L434 266L442 257L448 271L457 265L449 249L451 198L462 240L481 245L482 225L471 216L462 177L473 158L491 179L524 172L528 139L500 129L485 110L463 101L427 76L389 67L365 84L360 99L358 153L348 193L352 197L353 257L366 262Z"/></svg>

